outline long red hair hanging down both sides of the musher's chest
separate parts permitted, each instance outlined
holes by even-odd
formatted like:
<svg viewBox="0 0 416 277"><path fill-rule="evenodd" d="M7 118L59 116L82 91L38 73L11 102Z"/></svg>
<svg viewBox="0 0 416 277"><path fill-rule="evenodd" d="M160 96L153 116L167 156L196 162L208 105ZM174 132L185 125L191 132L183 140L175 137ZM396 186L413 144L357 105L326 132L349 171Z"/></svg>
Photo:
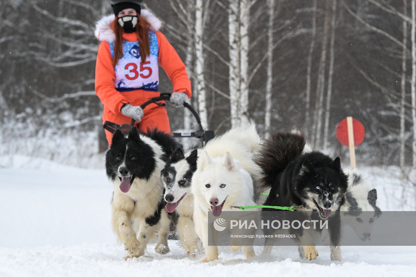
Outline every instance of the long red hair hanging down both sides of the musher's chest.
<svg viewBox="0 0 416 277"><path fill-rule="evenodd" d="M146 62L146 58L150 56L150 45L149 45L149 23L141 16L136 25L136 34L139 40L139 49L141 55L141 62ZM114 43L114 59L113 66L119 62L119 59L123 57L123 27L117 21L116 17L112 23L114 34L116 35L116 41Z"/></svg>

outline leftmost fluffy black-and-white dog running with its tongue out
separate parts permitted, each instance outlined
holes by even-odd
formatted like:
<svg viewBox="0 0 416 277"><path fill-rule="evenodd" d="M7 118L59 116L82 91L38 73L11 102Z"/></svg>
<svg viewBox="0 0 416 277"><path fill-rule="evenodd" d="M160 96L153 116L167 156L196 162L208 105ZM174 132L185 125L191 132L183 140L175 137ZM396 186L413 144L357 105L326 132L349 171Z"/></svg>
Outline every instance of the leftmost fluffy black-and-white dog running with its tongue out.
<svg viewBox="0 0 416 277"><path fill-rule="evenodd" d="M106 153L106 172L114 185L111 221L128 257L144 255L156 233L156 252L169 252L170 220L164 209L160 172L165 166L163 157L178 146L171 136L157 129L142 134L133 127L129 134L120 130L114 133Z"/></svg>

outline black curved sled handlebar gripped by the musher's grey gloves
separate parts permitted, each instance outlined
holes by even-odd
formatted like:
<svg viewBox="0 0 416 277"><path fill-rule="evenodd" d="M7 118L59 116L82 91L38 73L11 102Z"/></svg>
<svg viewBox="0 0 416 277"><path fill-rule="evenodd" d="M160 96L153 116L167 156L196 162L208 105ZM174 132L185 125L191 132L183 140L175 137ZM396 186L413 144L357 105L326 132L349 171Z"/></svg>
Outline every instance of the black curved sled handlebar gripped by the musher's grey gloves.
<svg viewBox="0 0 416 277"><path fill-rule="evenodd" d="M141 105L141 108L144 109L147 105L152 104L152 103L163 106L165 104L159 101L169 101L170 97L171 97L170 93L162 93L160 96L151 98L149 99L149 101L146 101L143 105ZM193 109L193 107L186 102L183 103L183 106L186 109L189 109L191 111L196 121L198 122L199 130L194 131L194 132L172 133L173 137L174 138L199 138L201 140L202 145L204 145L205 143L210 141L212 138L214 138L215 136L214 131L205 131L203 129L202 124L201 124L201 119L199 118L199 115L195 111L195 109ZM120 129L123 132L128 132L130 131L131 127L134 126L134 123L135 123L134 119L131 119L130 125L128 124L118 125L110 121L105 121L103 128L106 129L107 131L110 131L113 134L116 131L116 129Z"/></svg>

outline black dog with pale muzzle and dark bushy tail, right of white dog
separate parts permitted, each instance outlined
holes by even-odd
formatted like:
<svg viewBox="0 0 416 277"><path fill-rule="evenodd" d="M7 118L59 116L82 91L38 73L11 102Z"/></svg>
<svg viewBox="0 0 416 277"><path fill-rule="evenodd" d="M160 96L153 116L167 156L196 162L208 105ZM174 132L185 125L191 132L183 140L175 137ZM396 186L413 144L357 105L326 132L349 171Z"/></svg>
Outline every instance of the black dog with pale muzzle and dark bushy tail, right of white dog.
<svg viewBox="0 0 416 277"><path fill-rule="evenodd" d="M270 188L264 205L309 207L302 211L316 211L312 214L329 218L333 211L339 211L347 192L348 177L341 168L339 157L335 160L323 153L306 152L305 138L300 132L274 133L260 147L256 162L263 169L264 176L258 191ZM308 149L309 151L309 149ZM263 209L273 210L273 209ZM331 258L340 260L339 214L332 216L329 224ZM302 229L297 234L301 245ZM318 251L314 245L303 246L302 255L308 260L315 259Z"/></svg>

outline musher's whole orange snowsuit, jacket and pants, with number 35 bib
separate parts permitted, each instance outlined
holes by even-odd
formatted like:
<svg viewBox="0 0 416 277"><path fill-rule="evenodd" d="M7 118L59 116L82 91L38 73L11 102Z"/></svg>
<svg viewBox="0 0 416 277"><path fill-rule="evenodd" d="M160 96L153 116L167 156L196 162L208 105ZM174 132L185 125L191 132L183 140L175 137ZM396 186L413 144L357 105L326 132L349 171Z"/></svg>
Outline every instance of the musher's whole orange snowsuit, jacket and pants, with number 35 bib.
<svg viewBox="0 0 416 277"><path fill-rule="evenodd" d="M114 17L112 18L114 19ZM110 20L107 21L110 22ZM98 25L99 23L97 24L97 28L99 28ZM101 31L102 30L98 30L98 32ZM109 30L106 29L104 31L108 32ZM146 60L149 62L143 64L141 63L140 58L135 59L134 57L130 57L130 63L126 64L125 67L124 64L121 64L120 59L118 65L121 64L121 67L117 68L116 66L116 68L114 68L112 65L112 44L109 41L106 41L105 38L102 40L100 33L97 35L96 30L96 36L102 40L102 42L99 46L97 55L95 91L101 102L104 104L104 112L102 116L103 123L105 121L110 121L119 125L130 124L131 118L124 116L120 111L124 104L140 106L150 98L160 95L158 92L158 65L165 70L171 80L173 84L173 92L185 92L188 94L189 98L191 97L191 81L188 78L186 67L181 58L161 32L154 31L153 35L156 35L158 46L158 49L156 45L152 48L154 50L154 55L157 54L157 56L155 56L157 57L157 61L156 58L154 58L155 61L153 62L153 70L149 67L151 66L149 58ZM136 33L124 33L123 40L123 46L125 46L125 44L128 45L129 42L136 42L137 44L138 38ZM132 50L128 53L133 53L131 54L132 56L136 55L140 57L139 50L137 49L137 46L135 47L136 50L132 48ZM126 55L126 52L123 52L124 55ZM133 61L134 64L132 64L131 61ZM149 78L151 74L153 74L153 76L150 79L157 80L157 82L145 84L144 81L149 79L143 78ZM123 79L120 79L119 76L123 77ZM133 86L133 89L129 89L129 81L133 80L131 82L134 82L134 78L137 79L137 77L141 78L140 81L143 81L140 82L140 84L143 84L144 88L134 89L137 86ZM154 129L157 127L159 130L166 133L171 132L166 108L157 104L150 104L149 106L146 106L144 109L144 116L140 123L136 123L136 126L143 131L146 131L148 128ZM111 144L113 134L107 130L105 130L105 132L107 141Z"/></svg>

